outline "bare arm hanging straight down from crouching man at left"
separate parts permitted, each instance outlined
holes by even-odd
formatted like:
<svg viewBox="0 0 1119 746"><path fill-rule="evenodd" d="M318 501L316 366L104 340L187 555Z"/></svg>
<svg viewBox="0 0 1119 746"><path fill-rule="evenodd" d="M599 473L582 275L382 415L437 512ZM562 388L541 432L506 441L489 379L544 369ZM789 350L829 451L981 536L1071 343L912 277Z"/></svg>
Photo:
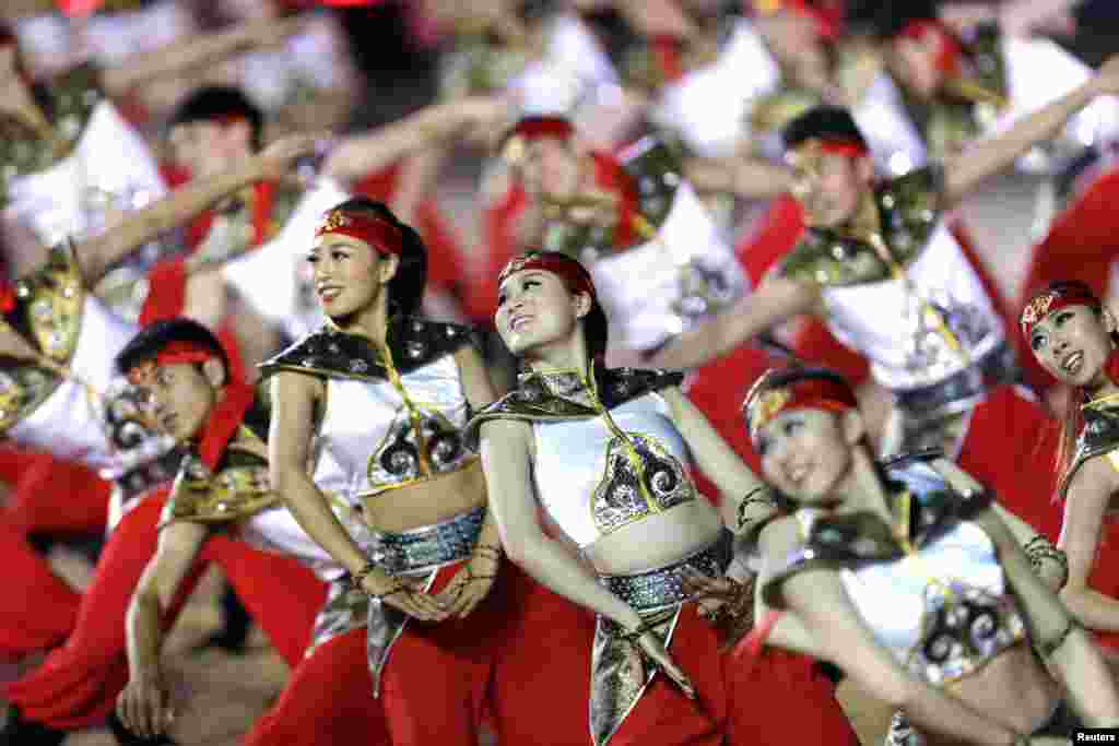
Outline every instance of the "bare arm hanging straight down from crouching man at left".
<svg viewBox="0 0 1119 746"><path fill-rule="evenodd" d="M186 521L161 530L156 555L148 561L129 604L124 624L129 682L116 698L116 712L124 727L144 738L164 733L173 717L159 662L163 617L207 533L205 526Z"/></svg>

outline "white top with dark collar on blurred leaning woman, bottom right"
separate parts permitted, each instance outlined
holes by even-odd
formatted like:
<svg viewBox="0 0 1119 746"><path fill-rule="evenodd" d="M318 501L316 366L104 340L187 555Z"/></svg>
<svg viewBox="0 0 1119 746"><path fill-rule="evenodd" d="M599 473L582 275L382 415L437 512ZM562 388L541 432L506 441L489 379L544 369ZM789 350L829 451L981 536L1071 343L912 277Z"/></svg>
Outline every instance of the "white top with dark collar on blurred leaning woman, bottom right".
<svg viewBox="0 0 1119 746"><path fill-rule="evenodd" d="M947 492L927 463L904 471L910 489L893 508L897 523L909 523L910 538L867 513L802 509L803 548L765 593L772 598L774 584L800 569L833 566L875 639L913 674L940 686L980 670L1023 640L1025 625L995 545L961 519L987 501Z"/></svg>

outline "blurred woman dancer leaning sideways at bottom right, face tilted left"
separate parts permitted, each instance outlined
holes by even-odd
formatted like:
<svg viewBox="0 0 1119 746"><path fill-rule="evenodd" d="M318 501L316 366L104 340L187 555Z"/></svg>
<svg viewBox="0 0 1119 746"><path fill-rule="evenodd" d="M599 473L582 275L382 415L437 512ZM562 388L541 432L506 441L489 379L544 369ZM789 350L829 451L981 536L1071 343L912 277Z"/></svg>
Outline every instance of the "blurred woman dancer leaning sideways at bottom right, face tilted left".
<svg viewBox="0 0 1119 746"><path fill-rule="evenodd" d="M759 640L835 662L927 743L1065 743L1046 737L1074 723L1046 664L1084 723L1119 723L1099 653L970 475L920 455L876 463L849 386L827 370L771 372L745 406L792 508L761 533L761 599L783 613Z"/></svg>

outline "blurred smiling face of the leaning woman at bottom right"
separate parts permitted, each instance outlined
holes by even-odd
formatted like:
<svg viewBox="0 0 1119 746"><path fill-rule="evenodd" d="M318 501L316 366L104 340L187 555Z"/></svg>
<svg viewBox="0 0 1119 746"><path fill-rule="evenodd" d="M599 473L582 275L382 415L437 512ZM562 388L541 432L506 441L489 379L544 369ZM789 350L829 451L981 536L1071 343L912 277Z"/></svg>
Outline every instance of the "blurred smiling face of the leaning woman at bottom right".
<svg viewBox="0 0 1119 746"><path fill-rule="evenodd" d="M798 503L834 500L850 473L853 446L861 436L849 416L792 409L768 422L755 443L767 481Z"/></svg>

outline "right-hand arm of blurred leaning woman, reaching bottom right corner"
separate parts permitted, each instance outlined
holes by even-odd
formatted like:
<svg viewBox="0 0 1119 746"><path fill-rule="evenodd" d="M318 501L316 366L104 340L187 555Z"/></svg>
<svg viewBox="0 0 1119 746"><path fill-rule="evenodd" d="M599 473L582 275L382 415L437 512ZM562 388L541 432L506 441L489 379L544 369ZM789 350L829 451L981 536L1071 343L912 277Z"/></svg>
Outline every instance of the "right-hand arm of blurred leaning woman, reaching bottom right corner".
<svg viewBox="0 0 1119 746"><path fill-rule="evenodd" d="M1091 728L1119 726L1119 695L1091 636L1041 582L1009 529L993 510L979 516L998 550L1007 582L1025 612L1037 652L1069 692L1069 700Z"/></svg>

